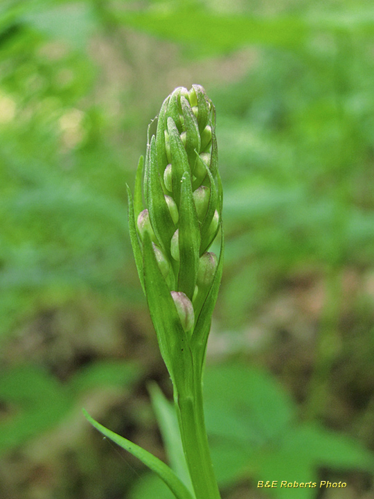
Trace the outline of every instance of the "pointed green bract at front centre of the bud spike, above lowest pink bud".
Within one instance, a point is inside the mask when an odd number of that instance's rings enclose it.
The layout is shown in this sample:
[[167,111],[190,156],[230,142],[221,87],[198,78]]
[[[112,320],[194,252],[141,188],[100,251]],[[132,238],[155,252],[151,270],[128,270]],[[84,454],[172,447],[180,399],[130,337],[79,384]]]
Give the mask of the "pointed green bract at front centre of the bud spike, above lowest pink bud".
[[190,300],[195,292],[199,267],[200,231],[188,172],[181,178],[181,204],[179,209],[179,276],[178,290]]

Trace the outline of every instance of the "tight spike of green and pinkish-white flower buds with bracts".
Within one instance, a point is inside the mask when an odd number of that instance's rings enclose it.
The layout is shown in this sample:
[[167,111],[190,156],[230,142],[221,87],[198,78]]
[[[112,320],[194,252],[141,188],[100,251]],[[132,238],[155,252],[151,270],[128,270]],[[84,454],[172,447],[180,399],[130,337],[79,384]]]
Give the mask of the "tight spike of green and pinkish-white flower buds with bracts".
[[208,249],[222,213],[215,108],[200,85],[178,87],[164,100],[142,183],[141,247],[150,238],[181,325],[192,331],[215,279],[218,259]]

